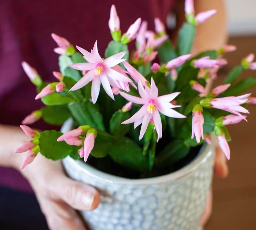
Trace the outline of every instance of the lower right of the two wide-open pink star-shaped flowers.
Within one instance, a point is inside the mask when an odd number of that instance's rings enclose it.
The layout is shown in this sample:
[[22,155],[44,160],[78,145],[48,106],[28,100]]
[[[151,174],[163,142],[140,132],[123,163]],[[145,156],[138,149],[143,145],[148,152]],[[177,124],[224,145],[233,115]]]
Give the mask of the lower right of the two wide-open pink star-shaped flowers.
[[176,92],[158,97],[158,89],[153,78],[151,78],[151,88],[148,86],[143,88],[141,81],[139,81],[138,86],[139,94],[141,97],[136,97],[124,92],[120,92],[120,95],[123,96],[126,100],[135,104],[143,105],[138,112],[136,112],[130,119],[124,121],[122,124],[129,124],[134,122],[134,128],[136,128],[142,123],[140,130],[141,139],[146,132],[148,123],[151,120],[156,127],[159,140],[162,137],[162,122],[159,112],[168,117],[185,118],[184,115],[172,109],[180,106],[174,106],[170,103],[170,101],[172,101],[180,93]]

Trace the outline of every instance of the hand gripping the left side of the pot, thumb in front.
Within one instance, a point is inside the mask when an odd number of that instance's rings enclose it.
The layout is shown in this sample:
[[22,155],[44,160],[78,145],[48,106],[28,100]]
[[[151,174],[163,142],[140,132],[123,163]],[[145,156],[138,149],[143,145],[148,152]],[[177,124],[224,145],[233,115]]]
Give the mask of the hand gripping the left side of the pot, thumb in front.
[[[27,141],[24,133],[15,131],[17,140]],[[13,148],[19,146],[17,143]],[[12,166],[19,169],[25,155],[16,153]],[[61,161],[46,159],[41,154],[20,172],[32,186],[50,230],[85,230],[75,210],[90,211],[99,205],[100,195],[95,188],[68,178]]]

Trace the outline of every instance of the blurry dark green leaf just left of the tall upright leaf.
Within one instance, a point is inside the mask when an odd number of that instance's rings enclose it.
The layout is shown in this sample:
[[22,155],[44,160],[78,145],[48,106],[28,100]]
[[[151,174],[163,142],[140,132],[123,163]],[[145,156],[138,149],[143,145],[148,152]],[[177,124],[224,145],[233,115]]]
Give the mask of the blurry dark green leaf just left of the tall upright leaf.
[[157,50],[160,61],[162,63],[166,63],[177,57],[176,51],[174,50],[172,41],[170,39],[165,40],[163,45],[160,46]]

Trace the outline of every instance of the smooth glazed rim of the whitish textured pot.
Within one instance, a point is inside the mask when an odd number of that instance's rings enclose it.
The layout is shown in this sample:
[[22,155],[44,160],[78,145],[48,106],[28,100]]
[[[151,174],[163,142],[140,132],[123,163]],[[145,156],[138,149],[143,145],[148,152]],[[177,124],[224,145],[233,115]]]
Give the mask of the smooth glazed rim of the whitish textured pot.
[[[67,120],[61,127],[61,132],[65,133],[68,130],[70,130],[72,127],[72,124],[73,124],[72,120],[71,121]],[[213,135],[211,136],[213,137]],[[134,185],[152,185],[152,184],[160,184],[160,183],[166,183],[169,181],[177,180],[195,171],[200,165],[204,164],[204,162],[206,162],[209,157],[212,156],[212,154],[214,153],[214,147],[215,147],[215,139],[212,138],[211,145],[203,144],[198,155],[191,162],[189,162],[188,165],[185,165],[179,170],[166,175],[143,178],[143,179],[129,179],[129,178],[112,175],[109,173],[104,173],[92,167],[89,164],[85,164],[83,161],[75,160],[69,156],[63,159],[63,161],[65,162],[64,164],[67,164],[67,163],[71,164],[74,167],[76,167],[79,171],[93,177],[96,180],[104,180],[105,182],[112,183],[112,184],[124,184],[124,185],[133,185],[133,186]]]

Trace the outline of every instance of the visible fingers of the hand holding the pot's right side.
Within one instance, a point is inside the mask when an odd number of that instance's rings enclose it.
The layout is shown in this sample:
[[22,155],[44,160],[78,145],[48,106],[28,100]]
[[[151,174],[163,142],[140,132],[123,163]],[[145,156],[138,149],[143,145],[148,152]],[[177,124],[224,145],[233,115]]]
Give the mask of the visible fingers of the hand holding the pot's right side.
[[[219,176],[220,178],[226,178],[228,176],[227,158],[225,157],[224,153],[221,151],[219,145],[217,145],[215,150],[214,174]],[[212,215],[212,188],[208,192],[204,213],[201,217],[202,226],[204,226],[207,223],[211,215]]]

